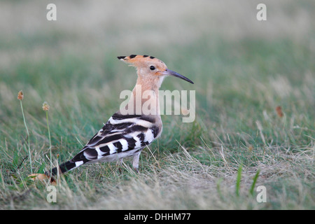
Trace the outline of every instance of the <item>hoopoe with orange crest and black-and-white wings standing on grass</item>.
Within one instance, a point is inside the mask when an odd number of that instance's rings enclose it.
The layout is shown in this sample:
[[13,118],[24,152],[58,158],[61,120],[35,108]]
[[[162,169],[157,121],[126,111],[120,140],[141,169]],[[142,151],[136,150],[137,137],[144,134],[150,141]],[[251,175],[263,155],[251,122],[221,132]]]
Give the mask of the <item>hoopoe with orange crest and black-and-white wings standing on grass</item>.
[[[162,132],[158,90],[163,79],[166,76],[175,76],[193,83],[185,76],[167,69],[164,62],[152,56],[130,55],[120,56],[118,59],[137,69],[137,84],[132,90],[130,101],[125,108],[120,108],[109,118],[104,127],[87,142],[77,155],[62,165],[45,172],[47,176],[63,174],[81,165],[94,162],[122,162],[123,158],[127,157],[133,157],[132,167],[139,172],[141,151],[158,139]],[[150,97],[145,101],[141,96],[148,92]],[[141,98],[139,99],[139,97]],[[139,106],[142,109],[144,104],[151,105],[148,111],[139,110]]]

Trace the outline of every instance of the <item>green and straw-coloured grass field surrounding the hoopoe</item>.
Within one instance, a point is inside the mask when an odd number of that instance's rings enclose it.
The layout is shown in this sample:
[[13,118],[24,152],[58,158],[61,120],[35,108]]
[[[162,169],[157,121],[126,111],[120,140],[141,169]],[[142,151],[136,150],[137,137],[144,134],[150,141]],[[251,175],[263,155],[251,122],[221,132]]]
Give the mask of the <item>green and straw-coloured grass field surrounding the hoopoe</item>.
[[[278,22],[285,29],[287,9],[269,4],[271,12],[282,12]],[[296,4],[297,14],[314,18],[311,3]],[[209,20],[202,19],[208,14],[196,14],[197,6],[169,7],[178,23],[167,24],[165,30],[174,35],[167,41],[159,35],[151,42],[135,41],[129,33],[130,42],[124,42],[122,30],[156,36],[148,27],[152,21],[130,28],[128,21],[116,21],[104,34],[91,34],[94,41],[86,45],[84,23],[82,30],[64,29],[66,22],[60,22],[49,31],[1,36],[8,60],[0,69],[0,209],[315,209],[314,29],[305,35],[300,26],[295,32],[302,37],[281,36],[271,21],[267,30],[273,38],[248,29],[231,38],[224,35],[225,24],[209,23],[210,31],[194,28],[199,35],[187,32],[187,40],[175,43],[183,27],[204,27]],[[243,21],[247,9],[234,9],[244,10],[236,14]],[[198,16],[189,20],[193,15]],[[181,23],[182,16],[190,22]],[[57,203],[48,203],[46,186],[27,176],[31,169],[50,169],[50,159],[54,165],[69,160],[118,110],[120,91],[131,90],[136,80],[134,69],[116,59],[129,52],[158,57],[195,82],[167,78],[161,89],[196,90],[196,120],[162,116],[162,136],[141,153],[139,174],[131,160],[124,160],[123,172],[116,163],[80,167],[61,177]],[[21,89],[29,134],[16,99]],[[50,104],[49,127],[43,102]],[[267,190],[265,203],[256,200],[258,186]]]

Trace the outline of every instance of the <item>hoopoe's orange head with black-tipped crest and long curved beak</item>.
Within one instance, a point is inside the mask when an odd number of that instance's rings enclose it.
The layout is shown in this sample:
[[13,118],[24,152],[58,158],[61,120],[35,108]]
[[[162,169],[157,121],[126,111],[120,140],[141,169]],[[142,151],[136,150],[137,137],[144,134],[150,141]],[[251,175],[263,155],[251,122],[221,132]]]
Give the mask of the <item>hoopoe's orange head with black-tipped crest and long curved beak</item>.
[[142,80],[160,80],[162,83],[165,76],[175,76],[183,80],[193,83],[192,80],[182,76],[176,71],[167,69],[167,66],[160,59],[148,55],[130,55],[119,56],[118,59],[122,60],[137,68],[138,76]]

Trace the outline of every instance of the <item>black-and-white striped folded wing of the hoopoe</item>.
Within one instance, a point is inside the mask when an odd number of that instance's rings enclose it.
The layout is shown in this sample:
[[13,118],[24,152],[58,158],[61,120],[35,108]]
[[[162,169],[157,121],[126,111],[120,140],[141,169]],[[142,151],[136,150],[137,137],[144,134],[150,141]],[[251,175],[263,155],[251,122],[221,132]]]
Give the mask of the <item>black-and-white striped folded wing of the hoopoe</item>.
[[[73,168],[92,162],[111,162],[134,155],[151,144],[162,131],[148,116],[115,113],[69,162]],[[71,168],[71,169],[73,169]]]

